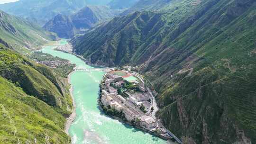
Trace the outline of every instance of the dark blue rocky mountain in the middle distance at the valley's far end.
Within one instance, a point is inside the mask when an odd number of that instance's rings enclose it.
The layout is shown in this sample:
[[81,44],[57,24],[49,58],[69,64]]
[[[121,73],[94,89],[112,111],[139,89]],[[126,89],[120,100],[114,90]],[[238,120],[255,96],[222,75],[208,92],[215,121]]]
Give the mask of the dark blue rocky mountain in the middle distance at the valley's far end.
[[83,33],[99,22],[106,21],[118,15],[121,10],[110,9],[107,6],[90,5],[71,16],[57,15],[46,23],[44,28],[55,32],[59,37],[71,38]]

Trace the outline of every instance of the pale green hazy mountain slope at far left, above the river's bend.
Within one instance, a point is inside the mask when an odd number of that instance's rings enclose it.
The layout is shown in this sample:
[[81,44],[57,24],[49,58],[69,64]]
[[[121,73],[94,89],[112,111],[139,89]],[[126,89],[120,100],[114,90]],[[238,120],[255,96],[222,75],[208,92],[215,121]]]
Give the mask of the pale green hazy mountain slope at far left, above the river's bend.
[[46,32],[37,24],[0,11],[0,38],[13,47],[30,48],[45,44],[53,39],[54,35]]

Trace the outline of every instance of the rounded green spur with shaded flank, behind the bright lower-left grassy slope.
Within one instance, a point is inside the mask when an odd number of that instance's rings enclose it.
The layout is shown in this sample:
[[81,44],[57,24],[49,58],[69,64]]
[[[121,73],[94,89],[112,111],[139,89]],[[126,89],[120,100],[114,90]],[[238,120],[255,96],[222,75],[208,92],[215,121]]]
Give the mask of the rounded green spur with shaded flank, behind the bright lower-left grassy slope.
[[0,75],[20,85],[28,94],[46,102],[67,116],[72,111],[72,100],[67,81],[49,68],[29,62],[7,49],[0,50]]

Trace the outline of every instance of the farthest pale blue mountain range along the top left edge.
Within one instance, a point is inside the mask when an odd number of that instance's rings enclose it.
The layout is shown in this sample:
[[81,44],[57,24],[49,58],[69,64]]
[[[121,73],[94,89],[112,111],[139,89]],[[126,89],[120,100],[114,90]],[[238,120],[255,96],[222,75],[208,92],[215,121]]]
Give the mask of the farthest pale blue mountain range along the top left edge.
[[71,15],[88,4],[106,5],[110,0],[19,0],[0,4],[0,9],[23,18],[36,19],[44,25],[58,14]]

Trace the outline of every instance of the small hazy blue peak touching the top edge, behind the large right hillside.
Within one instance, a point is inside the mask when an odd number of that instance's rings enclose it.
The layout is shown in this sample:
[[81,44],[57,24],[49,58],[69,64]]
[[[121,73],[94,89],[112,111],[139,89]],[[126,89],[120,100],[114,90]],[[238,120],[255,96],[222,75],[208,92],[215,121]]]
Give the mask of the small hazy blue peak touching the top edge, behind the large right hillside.
[[138,0],[112,0],[108,5],[111,9],[128,9]]

